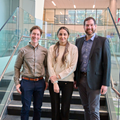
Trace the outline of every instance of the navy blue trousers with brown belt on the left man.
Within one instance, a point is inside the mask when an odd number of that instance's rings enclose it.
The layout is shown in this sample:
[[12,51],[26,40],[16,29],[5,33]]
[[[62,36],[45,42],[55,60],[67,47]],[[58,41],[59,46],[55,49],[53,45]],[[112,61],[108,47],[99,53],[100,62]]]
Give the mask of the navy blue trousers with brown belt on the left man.
[[21,120],[29,119],[29,110],[30,110],[32,97],[33,97],[33,108],[34,108],[33,120],[40,120],[44,88],[45,88],[45,81],[43,79],[39,81],[29,81],[22,79]]

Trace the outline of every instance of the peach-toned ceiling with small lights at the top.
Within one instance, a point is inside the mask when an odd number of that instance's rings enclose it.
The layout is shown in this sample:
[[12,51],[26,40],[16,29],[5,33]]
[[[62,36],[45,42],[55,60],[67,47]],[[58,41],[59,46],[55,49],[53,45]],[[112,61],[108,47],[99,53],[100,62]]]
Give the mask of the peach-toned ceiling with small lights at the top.
[[[107,8],[109,7],[111,0],[53,0],[56,4],[56,7],[52,4],[52,0],[45,0],[44,9],[48,8],[74,8],[73,5],[76,5],[76,9],[82,8],[92,8],[95,4],[95,8]],[[117,1],[117,8],[120,8],[120,0]]]

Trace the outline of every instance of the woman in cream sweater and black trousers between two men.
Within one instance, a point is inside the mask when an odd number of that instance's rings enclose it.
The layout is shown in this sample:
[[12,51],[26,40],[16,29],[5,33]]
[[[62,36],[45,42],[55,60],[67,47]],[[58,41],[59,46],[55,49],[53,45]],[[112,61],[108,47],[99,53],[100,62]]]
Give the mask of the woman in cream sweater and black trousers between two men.
[[[78,49],[75,45],[68,42],[69,30],[66,27],[60,27],[57,31],[57,36],[59,41],[52,45],[48,52],[52,120],[69,120]],[[61,110],[60,91],[62,93]]]

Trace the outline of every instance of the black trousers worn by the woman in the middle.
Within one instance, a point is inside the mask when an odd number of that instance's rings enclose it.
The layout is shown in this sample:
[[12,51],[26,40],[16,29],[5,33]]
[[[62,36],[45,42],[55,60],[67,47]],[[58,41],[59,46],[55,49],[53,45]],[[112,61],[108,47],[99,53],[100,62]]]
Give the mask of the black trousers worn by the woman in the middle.
[[70,101],[73,92],[73,82],[58,82],[61,95],[60,110],[60,93],[55,93],[53,84],[49,81],[49,91],[51,97],[52,120],[69,120]]

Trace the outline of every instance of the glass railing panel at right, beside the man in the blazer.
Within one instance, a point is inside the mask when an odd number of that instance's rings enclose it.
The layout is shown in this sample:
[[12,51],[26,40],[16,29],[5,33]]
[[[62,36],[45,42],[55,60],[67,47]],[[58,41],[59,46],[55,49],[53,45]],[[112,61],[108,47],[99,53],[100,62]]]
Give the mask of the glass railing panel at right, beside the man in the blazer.
[[[98,35],[101,35],[103,37],[107,37],[109,39],[110,43],[110,51],[111,51],[111,77],[113,79],[113,82],[116,83],[117,86],[114,86],[117,91],[119,91],[119,68],[120,68],[120,39],[119,39],[119,33],[115,27],[115,24],[113,22],[112,16],[108,9],[102,11],[101,15],[101,26],[97,27],[97,33]],[[99,21],[99,20],[98,20]],[[98,22],[99,24],[99,22]],[[111,88],[111,86],[110,86]],[[112,100],[110,98],[112,97]],[[109,105],[113,103],[113,107],[109,108],[108,111],[110,111],[109,115],[113,115],[116,118],[119,116],[119,103],[118,98],[116,97],[116,93],[110,89],[110,96],[108,98],[111,100]],[[116,120],[114,118],[114,120]]]

